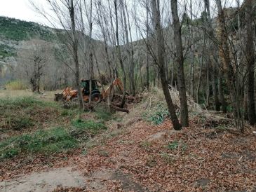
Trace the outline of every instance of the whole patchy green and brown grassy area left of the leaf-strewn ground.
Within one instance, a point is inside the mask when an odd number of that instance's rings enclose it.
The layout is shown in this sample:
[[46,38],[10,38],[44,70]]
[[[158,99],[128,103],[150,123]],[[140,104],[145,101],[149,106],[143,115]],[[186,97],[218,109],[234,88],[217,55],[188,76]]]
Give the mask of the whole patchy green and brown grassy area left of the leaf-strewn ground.
[[[76,118],[77,109],[62,109],[58,102],[36,97],[0,98],[0,131],[15,135],[0,141],[0,159],[27,153],[59,153],[83,146],[107,129],[104,122],[112,114],[97,114],[97,121],[84,120]],[[24,132],[28,128],[34,130]]]

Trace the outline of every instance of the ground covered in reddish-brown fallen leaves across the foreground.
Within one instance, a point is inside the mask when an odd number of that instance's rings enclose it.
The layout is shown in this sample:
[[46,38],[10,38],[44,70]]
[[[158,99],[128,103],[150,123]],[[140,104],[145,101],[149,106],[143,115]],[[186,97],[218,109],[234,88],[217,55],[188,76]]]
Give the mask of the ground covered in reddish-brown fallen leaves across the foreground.
[[[149,125],[139,120],[128,127],[117,127],[96,137],[83,149],[52,157],[20,157],[2,162],[0,180],[71,166],[86,177],[105,172],[121,172],[124,176],[92,177],[84,188],[58,187],[55,191],[253,191],[256,188],[256,136],[251,128],[241,135],[234,130],[201,128],[196,119],[180,132],[170,132],[169,121]],[[93,178],[99,180],[99,188],[90,185]]]

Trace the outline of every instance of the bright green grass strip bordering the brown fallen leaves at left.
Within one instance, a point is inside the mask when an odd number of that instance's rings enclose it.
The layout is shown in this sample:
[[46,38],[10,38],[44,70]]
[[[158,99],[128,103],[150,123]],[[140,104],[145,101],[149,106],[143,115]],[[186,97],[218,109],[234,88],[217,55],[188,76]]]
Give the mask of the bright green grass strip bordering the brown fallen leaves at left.
[[0,142],[0,159],[13,158],[20,153],[58,153],[79,146],[81,141],[107,129],[104,124],[92,120],[77,119],[71,125],[69,128],[37,130],[6,139]]

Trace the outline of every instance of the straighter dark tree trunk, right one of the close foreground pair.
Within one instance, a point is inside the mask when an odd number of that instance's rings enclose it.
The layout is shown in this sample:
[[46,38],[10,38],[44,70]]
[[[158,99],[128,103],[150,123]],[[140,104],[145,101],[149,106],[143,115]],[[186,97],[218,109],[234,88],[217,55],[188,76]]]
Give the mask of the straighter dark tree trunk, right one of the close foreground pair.
[[184,80],[184,67],[183,67],[183,48],[182,48],[182,36],[181,27],[179,21],[179,15],[177,13],[177,0],[171,0],[171,9],[173,15],[173,25],[174,25],[174,36],[176,44],[176,62],[178,69],[178,85],[179,85],[179,95],[180,95],[180,123],[184,127],[189,126],[189,112],[187,107],[187,95],[186,95],[186,85]]

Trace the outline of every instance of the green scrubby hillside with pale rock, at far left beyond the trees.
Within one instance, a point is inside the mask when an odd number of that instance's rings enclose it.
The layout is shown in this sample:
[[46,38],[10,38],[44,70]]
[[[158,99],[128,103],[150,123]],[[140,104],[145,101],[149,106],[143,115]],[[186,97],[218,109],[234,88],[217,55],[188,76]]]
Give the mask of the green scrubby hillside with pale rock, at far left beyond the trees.
[[17,52],[22,48],[21,42],[29,39],[54,41],[57,36],[50,27],[35,22],[0,17],[0,85],[11,78],[11,72],[17,64]]

